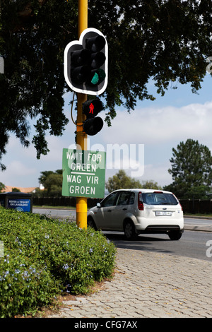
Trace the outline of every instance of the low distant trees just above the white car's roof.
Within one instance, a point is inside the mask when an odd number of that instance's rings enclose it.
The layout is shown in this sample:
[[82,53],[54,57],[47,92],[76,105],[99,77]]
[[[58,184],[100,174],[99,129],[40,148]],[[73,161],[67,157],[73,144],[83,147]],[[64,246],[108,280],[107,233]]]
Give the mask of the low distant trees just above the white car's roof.
[[117,172],[117,174],[115,174],[113,177],[109,177],[105,187],[109,192],[117,189],[129,188],[161,189],[157,182],[154,182],[153,180],[140,182],[139,180],[126,175],[124,170],[119,170],[119,172]]

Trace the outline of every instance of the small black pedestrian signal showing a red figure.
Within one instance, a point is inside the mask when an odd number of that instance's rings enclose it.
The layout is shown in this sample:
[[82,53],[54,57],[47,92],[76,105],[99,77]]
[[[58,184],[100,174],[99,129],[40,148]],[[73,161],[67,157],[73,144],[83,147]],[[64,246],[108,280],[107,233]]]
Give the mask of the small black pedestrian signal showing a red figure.
[[102,108],[102,102],[98,98],[83,103],[83,113],[86,114],[86,120],[83,121],[83,131],[86,134],[93,136],[102,129],[103,120],[96,117]]

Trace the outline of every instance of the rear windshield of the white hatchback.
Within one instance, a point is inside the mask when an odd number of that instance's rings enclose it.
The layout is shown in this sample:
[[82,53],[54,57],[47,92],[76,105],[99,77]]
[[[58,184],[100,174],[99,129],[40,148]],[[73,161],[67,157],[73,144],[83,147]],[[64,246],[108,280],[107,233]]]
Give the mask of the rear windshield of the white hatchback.
[[143,203],[149,205],[177,205],[178,201],[172,194],[142,193]]

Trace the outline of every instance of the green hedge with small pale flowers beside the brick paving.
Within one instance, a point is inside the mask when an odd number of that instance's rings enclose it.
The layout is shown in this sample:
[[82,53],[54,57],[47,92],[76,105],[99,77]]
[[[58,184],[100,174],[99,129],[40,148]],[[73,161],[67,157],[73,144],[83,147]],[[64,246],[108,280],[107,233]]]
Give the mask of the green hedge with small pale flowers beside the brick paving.
[[61,292],[110,277],[116,249],[101,232],[0,207],[0,317],[32,314]]

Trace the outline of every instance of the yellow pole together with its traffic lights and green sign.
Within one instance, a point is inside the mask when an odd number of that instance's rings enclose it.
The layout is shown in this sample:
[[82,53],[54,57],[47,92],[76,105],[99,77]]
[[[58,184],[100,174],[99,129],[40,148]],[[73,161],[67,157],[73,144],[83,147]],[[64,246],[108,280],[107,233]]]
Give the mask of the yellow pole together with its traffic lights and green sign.
[[[76,150],[63,149],[62,195],[76,196],[76,225],[80,228],[87,228],[87,198],[104,197],[104,186],[97,179],[104,178],[105,182],[105,153],[93,153],[87,147],[87,135],[94,136],[102,129],[103,120],[97,115],[103,105],[98,97],[87,99],[88,95],[100,95],[107,87],[107,54],[105,36],[88,28],[88,0],[78,0],[78,40],[69,42],[64,49],[64,77],[77,93]],[[76,160],[78,155],[80,162]],[[90,165],[94,163],[91,173]],[[88,172],[83,172],[80,164],[82,168],[88,165]]]

